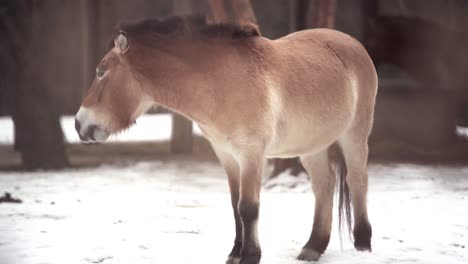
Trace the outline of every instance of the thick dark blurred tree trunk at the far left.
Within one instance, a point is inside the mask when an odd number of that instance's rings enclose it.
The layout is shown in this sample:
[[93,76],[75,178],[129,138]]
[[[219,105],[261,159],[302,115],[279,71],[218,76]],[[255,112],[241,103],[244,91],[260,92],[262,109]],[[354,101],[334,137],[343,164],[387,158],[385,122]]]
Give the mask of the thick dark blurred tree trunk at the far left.
[[[2,14],[1,23],[9,39],[15,63],[16,87],[12,117],[15,140],[26,169],[58,169],[68,165],[59,114],[42,80],[41,65],[47,54],[38,2],[16,1],[12,14]],[[8,11],[7,11],[8,12]]]

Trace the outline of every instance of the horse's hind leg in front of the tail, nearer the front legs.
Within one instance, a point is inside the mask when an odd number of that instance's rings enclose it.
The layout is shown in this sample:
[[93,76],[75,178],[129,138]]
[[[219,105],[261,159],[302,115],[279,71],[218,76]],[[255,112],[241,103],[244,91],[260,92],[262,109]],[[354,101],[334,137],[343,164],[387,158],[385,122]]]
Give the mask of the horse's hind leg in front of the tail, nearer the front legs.
[[330,241],[336,178],[330,166],[328,150],[315,155],[302,156],[301,162],[311,178],[315,195],[315,213],[309,241],[297,259],[317,261]]

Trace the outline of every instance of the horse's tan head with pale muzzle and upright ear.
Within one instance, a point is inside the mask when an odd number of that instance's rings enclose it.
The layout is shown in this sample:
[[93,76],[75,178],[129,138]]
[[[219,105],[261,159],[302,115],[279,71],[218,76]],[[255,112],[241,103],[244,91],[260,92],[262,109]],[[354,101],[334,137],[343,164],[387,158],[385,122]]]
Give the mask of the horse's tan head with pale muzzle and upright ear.
[[129,47],[127,37],[120,33],[96,68],[96,77],[75,118],[83,142],[105,141],[133,124],[152,105],[126,58]]

